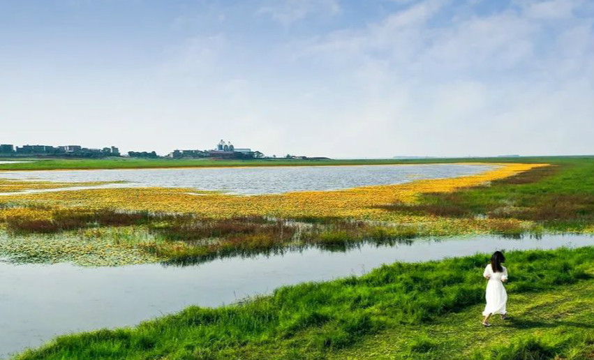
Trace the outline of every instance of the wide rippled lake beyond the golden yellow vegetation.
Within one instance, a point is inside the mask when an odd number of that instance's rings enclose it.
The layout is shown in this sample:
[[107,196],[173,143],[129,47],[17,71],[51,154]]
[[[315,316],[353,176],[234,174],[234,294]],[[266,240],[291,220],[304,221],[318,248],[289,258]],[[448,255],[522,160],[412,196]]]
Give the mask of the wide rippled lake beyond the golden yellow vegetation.
[[[287,193],[304,190],[336,190],[356,186],[406,183],[417,179],[437,179],[478,174],[493,165],[354,165],[281,167],[201,167],[176,169],[10,171],[0,178],[60,182],[127,181],[105,187],[159,186],[220,190],[241,195]],[[34,190],[78,190],[80,188]],[[14,193],[13,193],[14,194]]]

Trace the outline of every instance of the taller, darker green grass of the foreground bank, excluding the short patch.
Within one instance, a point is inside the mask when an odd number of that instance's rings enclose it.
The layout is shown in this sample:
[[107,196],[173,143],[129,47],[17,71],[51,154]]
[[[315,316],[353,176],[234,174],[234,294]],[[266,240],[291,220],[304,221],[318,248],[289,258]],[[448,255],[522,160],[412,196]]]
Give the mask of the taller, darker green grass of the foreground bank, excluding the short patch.
[[[564,299],[560,290],[571,285],[576,285],[573,292],[591,291],[593,247],[510,252],[506,257],[511,297],[537,301],[539,294],[551,292]],[[17,359],[327,359],[334,355],[338,359],[376,359],[373,350],[355,357],[345,354],[366,348],[366,341],[376,335],[393,332],[404,339],[418,329],[423,329],[422,333],[440,329],[447,317],[468,317],[470,320],[454,325],[496,336],[485,333],[479,324],[484,292],[481,274],[488,259],[487,255],[475,255],[396,263],[360,277],[281,287],[268,297],[232,306],[191,306],[134,328],[61,336]],[[545,263],[547,266],[536,266]],[[592,313],[584,303],[589,300],[572,303],[574,311],[581,306],[586,308],[579,310],[581,314],[587,309]],[[538,303],[534,306],[539,308]],[[562,315],[570,310],[555,311]],[[508,324],[526,325],[514,321]],[[459,346],[460,341],[420,338],[401,347],[392,344],[392,351],[401,356],[389,359],[448,359],[438,356],[443,356],[447,347]],[[475,349],[469,345],[463,350]]]

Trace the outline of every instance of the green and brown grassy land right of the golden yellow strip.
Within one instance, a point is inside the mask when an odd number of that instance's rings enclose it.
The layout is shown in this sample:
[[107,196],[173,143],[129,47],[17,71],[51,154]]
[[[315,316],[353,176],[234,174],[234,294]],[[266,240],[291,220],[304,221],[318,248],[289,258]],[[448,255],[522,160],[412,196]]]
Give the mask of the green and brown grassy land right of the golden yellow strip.
[[383,209],[417,216],[518,219],[545,230],[581,231],[594,223],[594,159],[549,159],[489,186],[425,193],[414,203],[395,202]]

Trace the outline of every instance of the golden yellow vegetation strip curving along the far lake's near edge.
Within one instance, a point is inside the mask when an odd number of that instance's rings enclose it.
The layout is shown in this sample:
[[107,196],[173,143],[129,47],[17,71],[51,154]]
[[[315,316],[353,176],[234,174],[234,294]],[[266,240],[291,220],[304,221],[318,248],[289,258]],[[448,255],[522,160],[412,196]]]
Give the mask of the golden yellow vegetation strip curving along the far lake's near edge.
[[[200,192],[187,188],[110,188],[6,195],[0,202],[34,203],[44,207],[112,208],[191,212],[200,216],[227,218],[232,216],[279,216],[366,218],[396,220],[395,213],[377,209],[378,205],[394,202],[415,202],[417,195],[451,192],[458,188],[478,186],[489,181],[510,177],[519,172],[547,164],[489,164],[497,167],[481,174],[451,179],[429,179],[387,186],[364,186],[346,190],[304,191],[273,195],[227,195]],[[13,211],[31,211],[31,216],[45,216],[45,210],[3,209],[0,220]],[[24,215],[21,213],[20,215]],[[406,220],[398,218],[398,220]],[[418,222],[419,217],[408,220]]]

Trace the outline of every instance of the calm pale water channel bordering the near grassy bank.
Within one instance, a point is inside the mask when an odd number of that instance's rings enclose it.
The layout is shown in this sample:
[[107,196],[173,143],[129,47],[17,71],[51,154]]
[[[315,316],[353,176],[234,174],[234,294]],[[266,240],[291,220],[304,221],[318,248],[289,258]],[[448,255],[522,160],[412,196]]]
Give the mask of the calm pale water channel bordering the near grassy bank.
[[[161,264],[83,268],[0,262],[0,357],[52,337],[138,324],[189,305],[220,306],[276,287],[361,275],[381,264],[419,262],[494,250],[593,246],[586,235],[541,239],[481,236],[362,244],[346,252],[318,248],[230,257],[188,267]],[[507,264],[513,278],[514,264]],[[480,278],[481,273],[477,273]]]

